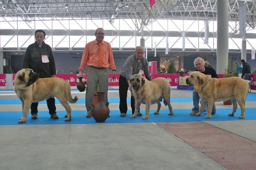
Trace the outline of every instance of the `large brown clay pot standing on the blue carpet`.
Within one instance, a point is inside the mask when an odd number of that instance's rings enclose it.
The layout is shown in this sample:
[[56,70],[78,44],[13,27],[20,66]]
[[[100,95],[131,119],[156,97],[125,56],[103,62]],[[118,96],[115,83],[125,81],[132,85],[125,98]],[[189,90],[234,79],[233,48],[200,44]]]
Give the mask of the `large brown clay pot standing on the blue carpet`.
[[103,123],[108,118],[109,115],[109,102],[107,104],[104,103],[104,94],[105,91],[97,91],[98,95],[98,102],[96,105],[93,105],[93,108],[91,109],[91,113],[93,118],[98,123]]

